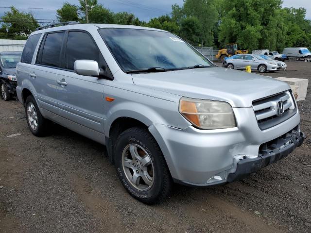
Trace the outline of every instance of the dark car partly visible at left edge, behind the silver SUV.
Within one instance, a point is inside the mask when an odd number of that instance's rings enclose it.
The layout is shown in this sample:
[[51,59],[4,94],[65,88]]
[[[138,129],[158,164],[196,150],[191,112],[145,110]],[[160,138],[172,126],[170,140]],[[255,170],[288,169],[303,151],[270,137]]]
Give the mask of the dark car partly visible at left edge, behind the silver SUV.
[[21,52],[0,52],[0,91],[3,100],[10,100],[16,96],[16,65]]

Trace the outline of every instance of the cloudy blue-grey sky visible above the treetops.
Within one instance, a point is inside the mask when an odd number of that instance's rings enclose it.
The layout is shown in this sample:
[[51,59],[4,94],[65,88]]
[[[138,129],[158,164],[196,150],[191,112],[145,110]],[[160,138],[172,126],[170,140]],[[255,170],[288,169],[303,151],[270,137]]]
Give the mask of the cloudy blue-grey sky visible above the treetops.
[[[8,11],[11,5],[20,11],[32,11],[36,19],[55,19],[56,9],[61,8],[63,2],[78,5],[78,0],[6,0],[0,5],[0,17]],[[170,14],[171,6],[175,3],[183,4],[183,0],[98,0],[113,12],[127,11],[136,15],[140,20],[148,21],[152,17]],[[22,8],[25,9],[22,9]],[[283,0],[283,7],[304,7],[307,9],[307,18],[311,19],[311,0]],[[32,8],[32,9],[29,9]],[[44,8],[44,9],[34,9]],[[49,8],[49,9],[47,9]]]

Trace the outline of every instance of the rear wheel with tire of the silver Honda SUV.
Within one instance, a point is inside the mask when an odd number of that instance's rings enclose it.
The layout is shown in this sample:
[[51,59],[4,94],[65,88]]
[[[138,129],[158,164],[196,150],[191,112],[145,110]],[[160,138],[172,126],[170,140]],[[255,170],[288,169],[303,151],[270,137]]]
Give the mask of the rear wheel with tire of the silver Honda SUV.
[[47,120],[41,115],[35,98],[28,96],[25,102],[25,115],[28,127],[35,136],[45,134]]

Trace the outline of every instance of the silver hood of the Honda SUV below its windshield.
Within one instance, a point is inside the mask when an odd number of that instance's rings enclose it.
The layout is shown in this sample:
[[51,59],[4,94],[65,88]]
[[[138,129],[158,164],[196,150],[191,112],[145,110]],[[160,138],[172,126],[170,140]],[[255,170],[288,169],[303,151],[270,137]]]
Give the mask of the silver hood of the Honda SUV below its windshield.
[[134,84],[196,99],[221,100],[247,108],[258,100],[285,90],[282,81],[222,67],[133,74]]

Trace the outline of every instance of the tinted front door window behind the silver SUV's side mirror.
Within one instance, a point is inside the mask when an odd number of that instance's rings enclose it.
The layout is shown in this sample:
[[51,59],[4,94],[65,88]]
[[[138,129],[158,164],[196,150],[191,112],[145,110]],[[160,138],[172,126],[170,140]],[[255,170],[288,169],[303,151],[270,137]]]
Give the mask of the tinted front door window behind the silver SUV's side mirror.
[[76,60],[93,60],[99,67],[103,64],[103,56],[88,33],[69,32],[65,51],[65,68],[73,70]]

